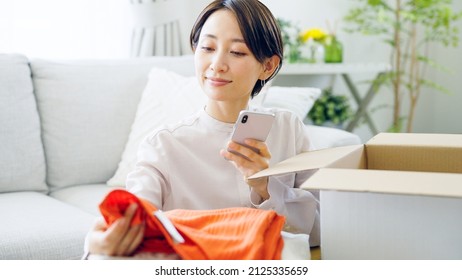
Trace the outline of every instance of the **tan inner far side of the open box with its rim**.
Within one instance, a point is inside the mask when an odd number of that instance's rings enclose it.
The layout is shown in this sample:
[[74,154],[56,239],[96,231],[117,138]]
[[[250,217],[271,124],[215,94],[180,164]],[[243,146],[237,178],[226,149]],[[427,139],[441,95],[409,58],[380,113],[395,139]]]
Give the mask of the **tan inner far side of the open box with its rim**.
[[368,169],[462,173],[462,135],[380,133],[366,144]]

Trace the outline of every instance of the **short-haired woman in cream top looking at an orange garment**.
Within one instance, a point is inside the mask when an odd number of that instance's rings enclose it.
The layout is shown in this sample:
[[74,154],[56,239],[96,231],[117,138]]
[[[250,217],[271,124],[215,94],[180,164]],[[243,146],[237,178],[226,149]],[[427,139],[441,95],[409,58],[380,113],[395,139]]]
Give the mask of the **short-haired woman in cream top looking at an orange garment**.
[[[190,36],[196,76],[208,97],[203,110],[151,133],[138,151],[127,189],[163,210],[256,207],[273,209],[287,228],[318,243],[318,201],[296,188],[306,174],[247,178],[270,164],[309,150],[303,123],[287,111],[271,110],[275,122],[265,142],[230,142],[239,112],[282,64],[279,27],[258,0],[217,0],[199,15]],[[233,152],[230,152],[233,151]],[[91,253],[132,254],[143,225],[130,227],[132,205],[111,227],[99,221],[87,241]]]

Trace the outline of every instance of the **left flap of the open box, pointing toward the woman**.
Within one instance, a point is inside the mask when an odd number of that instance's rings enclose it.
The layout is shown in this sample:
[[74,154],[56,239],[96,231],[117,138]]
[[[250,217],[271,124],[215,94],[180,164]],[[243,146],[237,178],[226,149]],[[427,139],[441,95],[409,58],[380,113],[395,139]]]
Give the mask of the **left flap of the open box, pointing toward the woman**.
[[[313,170],[329,166],[346,168],[348,165],[351,165],[352,168],[358,168],[358,164],[363,163],[361,157],[359,157],[360,159],[353,160],[351,163],[345,158],[348,158],[348,156],[352,154],[362,153],[363,148],[364,145],[351,145],[301,153],[281,161],[270,168],[255,173],[250,176],[249,179],[303,170]],[[353,158],[358,158],[358,156],[356,155]]]

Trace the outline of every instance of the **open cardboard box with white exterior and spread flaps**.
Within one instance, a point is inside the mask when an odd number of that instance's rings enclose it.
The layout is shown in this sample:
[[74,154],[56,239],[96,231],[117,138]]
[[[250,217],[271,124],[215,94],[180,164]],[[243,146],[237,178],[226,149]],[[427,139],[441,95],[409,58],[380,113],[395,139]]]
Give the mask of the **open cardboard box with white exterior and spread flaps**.
[[322,259],[462,259],[462,135],[381,133],[254,177],[309,169]]

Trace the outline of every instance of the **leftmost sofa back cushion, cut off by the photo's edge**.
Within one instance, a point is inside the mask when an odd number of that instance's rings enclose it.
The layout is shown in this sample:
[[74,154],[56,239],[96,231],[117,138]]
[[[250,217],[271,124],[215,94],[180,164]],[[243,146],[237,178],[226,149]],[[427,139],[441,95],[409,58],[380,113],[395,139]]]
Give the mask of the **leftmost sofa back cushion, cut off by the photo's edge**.
[[45,175],[28,60],[0,55],[0,192],[47,191]]

